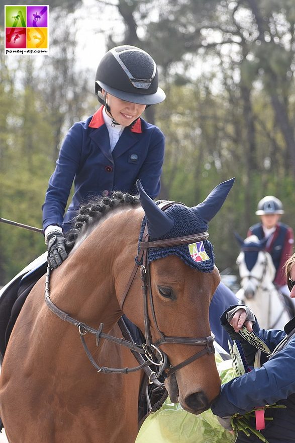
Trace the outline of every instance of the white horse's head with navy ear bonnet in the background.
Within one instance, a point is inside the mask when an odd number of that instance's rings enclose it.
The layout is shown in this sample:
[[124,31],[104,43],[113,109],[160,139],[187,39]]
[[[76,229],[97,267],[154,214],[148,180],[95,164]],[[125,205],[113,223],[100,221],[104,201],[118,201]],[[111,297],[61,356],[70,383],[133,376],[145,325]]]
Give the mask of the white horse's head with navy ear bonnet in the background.
[[241,246],[237,265],[241,278],[241,286],[247,300],[253,299],[259,286],[267,287],[274,279],[275,267],[271,256],[265,251],[267,238],[259,240],[252,235],[243,240],[236,234]]

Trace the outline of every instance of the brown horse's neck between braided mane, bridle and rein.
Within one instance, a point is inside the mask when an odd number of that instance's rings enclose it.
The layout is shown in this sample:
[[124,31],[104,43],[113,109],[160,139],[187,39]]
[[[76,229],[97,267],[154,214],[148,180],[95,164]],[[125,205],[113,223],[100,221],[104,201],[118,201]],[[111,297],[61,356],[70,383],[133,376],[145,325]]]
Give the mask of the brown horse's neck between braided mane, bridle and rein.
[[128,281],[140,228],[140,218],[129,220],[127,212],[117,212],[101,223],[52,273],[52,301],[90,326],[98,327],[97,322],[103,322],[110,329],[122,315],[116,297],[118,274],[125,270]]

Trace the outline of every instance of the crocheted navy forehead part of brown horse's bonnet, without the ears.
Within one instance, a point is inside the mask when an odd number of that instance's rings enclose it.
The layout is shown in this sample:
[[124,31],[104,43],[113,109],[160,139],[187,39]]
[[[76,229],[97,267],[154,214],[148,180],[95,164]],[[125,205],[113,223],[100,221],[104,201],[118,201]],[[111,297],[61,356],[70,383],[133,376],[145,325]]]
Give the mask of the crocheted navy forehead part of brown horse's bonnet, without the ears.
[[[156,203],[159,204],[160,201]],[[208,230],[208,225],[201,219],[194,208],[182,204],[173,204],[164,212],[174,220],[174,226],[162,237],[153,238],[152,240],[164,240],[186,235],[201,234]],[[146,217],[143,218],[141,224],[139,242],[142,241],[145,225]],[[208,240],[192,242],[190,245],[149,248],[148,261],[152,262],[153,260],[167,257],[168,255],[177,255],[186,265],[198,269],[201,272],[212,272],[214,268],[213,246]]]

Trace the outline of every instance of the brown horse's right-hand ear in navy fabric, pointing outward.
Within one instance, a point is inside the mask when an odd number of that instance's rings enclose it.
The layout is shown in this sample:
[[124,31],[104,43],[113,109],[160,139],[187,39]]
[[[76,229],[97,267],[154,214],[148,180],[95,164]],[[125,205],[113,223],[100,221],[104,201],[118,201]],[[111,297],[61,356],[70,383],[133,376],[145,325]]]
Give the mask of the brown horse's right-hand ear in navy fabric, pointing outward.
[[206,200],[194,207],[205,223],[209,223],[209,221],[212,220],[212,218],[217,214],[225,202],[234,181],[235,179],[231,178],[226,182],[220,183],[218,186],[216,186],[216,188],[213,189],[213,191],[210,192]]

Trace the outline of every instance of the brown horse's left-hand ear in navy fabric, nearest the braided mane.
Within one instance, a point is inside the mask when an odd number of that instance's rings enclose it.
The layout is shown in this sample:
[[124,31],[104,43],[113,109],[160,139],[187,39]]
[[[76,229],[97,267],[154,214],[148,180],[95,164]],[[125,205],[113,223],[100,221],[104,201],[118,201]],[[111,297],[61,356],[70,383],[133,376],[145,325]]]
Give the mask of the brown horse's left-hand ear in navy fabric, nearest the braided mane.
[[152,239],[158,239],[173,228],[174,219],[171,214],[162,211],[147,195],[140,180],[137,180],[136,186],[139,192],[139,200],[145,213],[149,235]]

